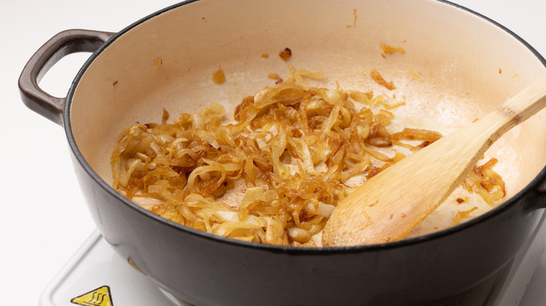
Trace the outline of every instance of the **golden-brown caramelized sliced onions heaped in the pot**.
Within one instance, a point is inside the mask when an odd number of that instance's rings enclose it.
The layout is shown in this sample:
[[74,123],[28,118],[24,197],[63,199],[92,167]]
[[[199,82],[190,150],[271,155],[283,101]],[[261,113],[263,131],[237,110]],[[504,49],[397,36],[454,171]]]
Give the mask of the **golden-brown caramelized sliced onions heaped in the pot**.
[[[212,103],[172,123],[164,110],[159,124],[127,126],[111,156],[113,187],[155,214],[202,231],[315,245],[311,237],[353,189],[349,180],[360,176],[362,182],[405,157],[376,147],[415,151],[442,137],[409,128],[389,133],[394,116],[386,109],[403,103],[372,92],[311,87],[303,79],[322,76],[291,68],[287,80],[244,98],[235,123],[226,124],[223,106]],[[386,109],[374,113],[377,106]],[[491,166],[478,167],[464,184],[487,201],[491,193],[498,196],[502,182]],[[237,188],[244,196],[237,198]]]

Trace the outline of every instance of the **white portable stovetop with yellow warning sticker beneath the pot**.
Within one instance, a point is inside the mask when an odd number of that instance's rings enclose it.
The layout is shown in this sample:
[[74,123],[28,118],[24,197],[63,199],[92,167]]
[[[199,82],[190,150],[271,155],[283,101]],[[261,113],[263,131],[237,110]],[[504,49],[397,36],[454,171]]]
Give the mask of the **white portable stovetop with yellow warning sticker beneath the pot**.
[[[520,301],[546,247],[545,217],[546,212],[531,239],[505,268],[442,306],[536,306]],[[118,256],[97,230],[52,279],[39,305],[190,306],[159,289]]]

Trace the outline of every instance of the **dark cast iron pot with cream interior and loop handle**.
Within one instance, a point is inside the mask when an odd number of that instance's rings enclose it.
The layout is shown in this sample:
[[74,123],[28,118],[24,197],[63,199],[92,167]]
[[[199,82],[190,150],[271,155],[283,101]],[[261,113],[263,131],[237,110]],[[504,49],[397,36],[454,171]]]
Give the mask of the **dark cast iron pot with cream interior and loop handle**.
[[[380,43],[406,52],[382,57]],[[284,48],[293,52],[288,63],[276,55]],[[41,75],[78,51],[93,53],[66,98],[43,92]],[[30,59],[19,86],[29,108],[64,126],[106,241],[160,288],[195,305],[436,303],[494,275],[535,230],[546,207],[544,111],[491,149],[512,173],[505,203],[458,226],[384,245],[295,248],[218,238],[166,221],[111,188],[109,156],[123,126],[157,122],[163,108],[195,112],[211,101],[229,114],[244,96],[272,85],[267,73],[287,75],[288,64],[323,71],[327,87],[338,81],[379,94],[386,89],[367,76],[377,68],[398,85],[385,94],[405,99],[400,111],[446,129],[470,123],[546,72],[545,59],[518,36],[444,1],[202,0],[165,8],[117,34],[59,33]],[[223,85],[211,81],[218,66]]]

